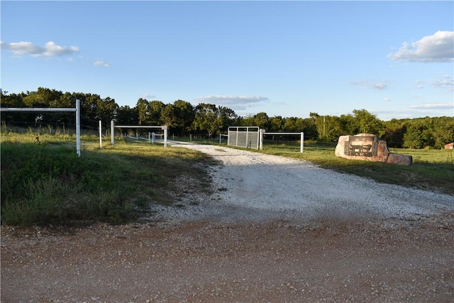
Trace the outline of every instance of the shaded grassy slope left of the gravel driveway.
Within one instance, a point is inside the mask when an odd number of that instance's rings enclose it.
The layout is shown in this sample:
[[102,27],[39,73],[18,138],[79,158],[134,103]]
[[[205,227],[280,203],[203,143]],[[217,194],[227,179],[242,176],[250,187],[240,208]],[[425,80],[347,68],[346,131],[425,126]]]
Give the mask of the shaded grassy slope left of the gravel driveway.
[[121,224],[142,216],[150,204],[175,203],[179,176],[194,190],[209,188],[211,159],[186,148],[117,141],[99,148],[96,137],[11,135],[1,137],[1,223]]

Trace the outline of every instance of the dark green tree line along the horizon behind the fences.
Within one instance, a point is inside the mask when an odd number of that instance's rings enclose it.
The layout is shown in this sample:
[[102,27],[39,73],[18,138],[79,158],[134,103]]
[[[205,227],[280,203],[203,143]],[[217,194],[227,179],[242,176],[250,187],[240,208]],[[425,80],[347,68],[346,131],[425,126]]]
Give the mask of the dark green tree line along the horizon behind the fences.
[[[305,138],[336,142],[339,136],[373,133],[389,147],[443,148],[454,141],[454,118],[425,117],[417,119],[392,119],[382,121],[365,109],[355,109],[352,114],[320,116],[310,113],[309,118],[296,116],[268,116],[265,112],[238,116],[226,106],[200,103],[196,106],[184,100],[172,104],[140,98],[134,107],[118,106],[115,99],[101,98],[99,94],[61,92],[38,87],[37,91],[8,94],[1,91],[1,107],[75,107],[81,104],[82,128],[98,128],[99,121],[109,128],[110,121],[117,125],[167,125],[171,134],[188,136],[199,134],[212,138],[226,133],[228,126],[259,126],[268,132],[304,132]],[[18,126],[71,126],[74,114],[1,112],[2,123]]]

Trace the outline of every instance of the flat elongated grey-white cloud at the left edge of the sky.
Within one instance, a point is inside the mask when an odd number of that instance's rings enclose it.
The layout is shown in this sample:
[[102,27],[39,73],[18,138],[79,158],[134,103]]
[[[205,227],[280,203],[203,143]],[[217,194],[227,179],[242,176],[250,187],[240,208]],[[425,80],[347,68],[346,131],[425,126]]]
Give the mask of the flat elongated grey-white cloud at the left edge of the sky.
[[26,41],[11,43],[0,41],[0,46],[1,49],[9,50],[14,55],[30,55],[33,57],[59,57],[79,53],[77,46],[60,46],[53,41],[45,43],[43,47]]

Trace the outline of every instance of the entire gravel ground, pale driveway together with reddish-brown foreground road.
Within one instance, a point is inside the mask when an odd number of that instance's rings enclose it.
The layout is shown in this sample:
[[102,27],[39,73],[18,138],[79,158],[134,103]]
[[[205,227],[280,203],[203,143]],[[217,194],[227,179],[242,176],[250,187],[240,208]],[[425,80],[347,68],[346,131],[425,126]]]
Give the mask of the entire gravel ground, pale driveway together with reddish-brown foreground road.
[[[454,197],[211,145],[143,223],[1,228],[1,302],[453,302]],[[184,192],[186,194],[181,194]]]

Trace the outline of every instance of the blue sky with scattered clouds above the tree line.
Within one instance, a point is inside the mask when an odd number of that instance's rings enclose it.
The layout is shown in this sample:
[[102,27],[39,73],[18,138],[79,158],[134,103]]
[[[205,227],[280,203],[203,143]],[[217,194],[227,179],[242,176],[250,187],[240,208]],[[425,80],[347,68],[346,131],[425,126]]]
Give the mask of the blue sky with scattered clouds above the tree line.
[[454,116],[453,1],[1,1],[1,89]]

